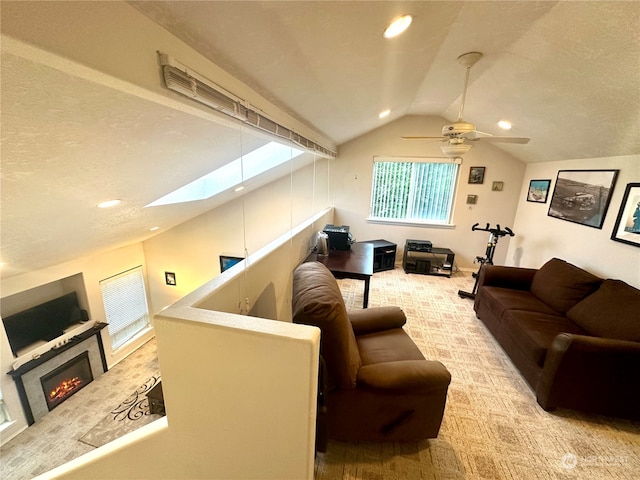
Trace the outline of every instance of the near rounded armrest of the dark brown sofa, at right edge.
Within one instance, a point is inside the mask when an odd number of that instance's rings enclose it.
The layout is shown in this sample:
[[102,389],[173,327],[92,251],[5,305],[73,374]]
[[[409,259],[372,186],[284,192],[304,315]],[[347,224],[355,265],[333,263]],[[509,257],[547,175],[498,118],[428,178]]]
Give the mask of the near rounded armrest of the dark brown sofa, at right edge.
[[640,343],[561,333],[536,386],[545,409],[575,408],[640,419]]

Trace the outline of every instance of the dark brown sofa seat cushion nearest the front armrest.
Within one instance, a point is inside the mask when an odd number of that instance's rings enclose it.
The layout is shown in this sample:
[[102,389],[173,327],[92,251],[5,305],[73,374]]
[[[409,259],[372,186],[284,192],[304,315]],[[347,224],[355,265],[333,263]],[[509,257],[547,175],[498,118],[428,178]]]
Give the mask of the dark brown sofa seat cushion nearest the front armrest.
[[585,335],[587,332],[566,317],[538,312],[509,310],[502,318],[505,332],[522,353],[542,367],[551,342],[559,333]]

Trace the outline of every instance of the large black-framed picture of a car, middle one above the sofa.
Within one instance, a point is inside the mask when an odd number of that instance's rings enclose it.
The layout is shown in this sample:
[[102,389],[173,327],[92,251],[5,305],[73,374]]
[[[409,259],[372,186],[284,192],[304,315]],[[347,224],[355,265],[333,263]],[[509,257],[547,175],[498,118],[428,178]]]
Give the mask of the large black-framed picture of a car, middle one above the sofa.
[[618,170],[560,170],[548,215],[602,228]]

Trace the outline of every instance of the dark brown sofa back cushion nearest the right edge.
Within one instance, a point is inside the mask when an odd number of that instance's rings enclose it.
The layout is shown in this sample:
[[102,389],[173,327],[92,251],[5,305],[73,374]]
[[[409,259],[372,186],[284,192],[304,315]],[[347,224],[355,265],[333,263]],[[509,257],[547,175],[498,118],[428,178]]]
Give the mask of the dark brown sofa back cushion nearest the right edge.
[[567,317],[591,335],[640,342],[640,290],[621,280],[605,280]]

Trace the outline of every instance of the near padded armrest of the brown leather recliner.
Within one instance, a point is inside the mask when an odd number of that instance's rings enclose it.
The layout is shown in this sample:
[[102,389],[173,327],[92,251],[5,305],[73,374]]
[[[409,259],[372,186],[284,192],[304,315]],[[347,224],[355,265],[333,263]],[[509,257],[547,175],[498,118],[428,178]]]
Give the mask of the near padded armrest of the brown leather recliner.
[[357,385],[362,389],[386,393],[428,394],[446,389],[451,374],[434,360],[401,360],[378,363],[360,368]]

